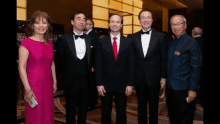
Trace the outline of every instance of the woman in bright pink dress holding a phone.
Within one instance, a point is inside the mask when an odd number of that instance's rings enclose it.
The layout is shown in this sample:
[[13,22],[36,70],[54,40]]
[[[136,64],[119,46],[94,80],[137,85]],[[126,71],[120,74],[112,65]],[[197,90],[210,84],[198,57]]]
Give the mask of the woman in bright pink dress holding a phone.
[[[51,20],[36,11],[27,25],[28,38],[19,47],[19,73],[25,89],[26,124],[54,124],[54,92],[57,90],[53,43],[48,40]],[[38,103],[31,108],[34,97]]]

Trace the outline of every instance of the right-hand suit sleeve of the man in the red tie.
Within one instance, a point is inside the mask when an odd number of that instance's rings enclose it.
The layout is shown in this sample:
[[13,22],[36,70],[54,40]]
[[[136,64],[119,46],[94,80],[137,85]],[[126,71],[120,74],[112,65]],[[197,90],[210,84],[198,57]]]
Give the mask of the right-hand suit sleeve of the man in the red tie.
[[134,58],[134,47],[133,42],[131,39],[129,39],[131,42],[129,45],[129,77],[128,77],[128,86],[134,86],[134,71],[135,71],[135,58]]

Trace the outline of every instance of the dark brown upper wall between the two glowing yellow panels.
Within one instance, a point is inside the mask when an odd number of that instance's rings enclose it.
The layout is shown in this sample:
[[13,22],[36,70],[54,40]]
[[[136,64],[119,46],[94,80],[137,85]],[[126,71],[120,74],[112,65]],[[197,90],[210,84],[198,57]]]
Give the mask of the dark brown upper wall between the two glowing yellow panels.
[[53,23],[63,24],[64,33],[72,31],[71,16],[76,11],[83,11],[87,18],[92,18],[90,0],[29,0],[27,1],[27,19],[34,11],[42,10],[49,14]]

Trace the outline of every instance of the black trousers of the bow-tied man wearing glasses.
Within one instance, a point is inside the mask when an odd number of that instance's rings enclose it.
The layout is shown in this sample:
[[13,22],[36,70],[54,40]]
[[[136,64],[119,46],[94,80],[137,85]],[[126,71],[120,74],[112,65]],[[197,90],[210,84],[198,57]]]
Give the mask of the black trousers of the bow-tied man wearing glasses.
[[150,110],[149,123],[157,124],[160,86],[149,87],[144,81],[135,87],[138,99],[138,124],[147,124],[147,101]]

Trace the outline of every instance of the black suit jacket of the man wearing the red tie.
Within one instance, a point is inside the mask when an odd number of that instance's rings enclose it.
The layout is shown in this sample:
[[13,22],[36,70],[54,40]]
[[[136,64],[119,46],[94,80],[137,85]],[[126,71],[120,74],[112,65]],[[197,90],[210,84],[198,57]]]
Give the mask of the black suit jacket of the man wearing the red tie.
[[110,35],[100,39],[96,50],[96,82],[106,92],[124,93],[126,86],[134,86],[134,50],[131,39],[121,35],[115,61]]

